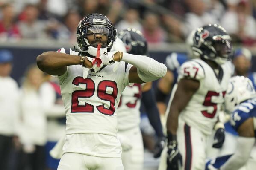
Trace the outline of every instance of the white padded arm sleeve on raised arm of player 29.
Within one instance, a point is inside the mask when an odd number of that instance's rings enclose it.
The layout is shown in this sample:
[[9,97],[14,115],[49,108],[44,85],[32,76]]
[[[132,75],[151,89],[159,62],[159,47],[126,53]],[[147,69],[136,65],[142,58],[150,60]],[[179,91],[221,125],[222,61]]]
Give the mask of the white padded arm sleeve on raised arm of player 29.
[[154,81],[164,77],[167,72],[165,64],[142,55],[123,53],[122,61],[135,66],[137,68],[138,76],[144,82]]

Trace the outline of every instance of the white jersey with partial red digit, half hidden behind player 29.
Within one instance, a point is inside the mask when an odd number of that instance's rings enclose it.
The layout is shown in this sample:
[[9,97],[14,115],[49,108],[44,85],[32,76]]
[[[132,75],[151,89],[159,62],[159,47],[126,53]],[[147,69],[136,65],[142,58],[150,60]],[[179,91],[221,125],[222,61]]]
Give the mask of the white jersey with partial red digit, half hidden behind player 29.
[[118,130],[138,127],[140,124],[142,84],[126,86],[118,105]]

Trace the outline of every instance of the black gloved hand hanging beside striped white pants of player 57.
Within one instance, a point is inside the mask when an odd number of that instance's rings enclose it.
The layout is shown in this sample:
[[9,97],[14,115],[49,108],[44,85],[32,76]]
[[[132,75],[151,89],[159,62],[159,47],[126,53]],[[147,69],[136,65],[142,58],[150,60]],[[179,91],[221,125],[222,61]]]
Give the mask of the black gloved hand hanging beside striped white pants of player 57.
[[[176,138],[176,137],[175,137]],[[168,139],[167,170],[179,170],[182,167],[182,156],[179,153],[176,139]]]

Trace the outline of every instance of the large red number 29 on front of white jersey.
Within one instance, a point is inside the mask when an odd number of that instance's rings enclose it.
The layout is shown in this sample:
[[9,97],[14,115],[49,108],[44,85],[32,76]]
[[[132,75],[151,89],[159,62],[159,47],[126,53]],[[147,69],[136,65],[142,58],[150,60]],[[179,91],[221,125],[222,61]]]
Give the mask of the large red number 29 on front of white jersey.
[[[90,98],[95,92],[95,83],[91,78],[83,79],[82,77],[74,78],[72,84],[79,86],[79,84],[85,84],[85,90],[76,90],[72,93],[71,113],[91,113],[94,112],[94,106],[88,103],[79,105],[79,98]],[[112,94],[107,93],[107,87],[112,88]],[[104,115],[113,115],[115,112],[115,99],[118,95],[118,88],[115,81],[103,80],[98,84],[97,96],[101,100],[109,101],[110,107],[106,108],[104,104],[96,106],[97,110]]]

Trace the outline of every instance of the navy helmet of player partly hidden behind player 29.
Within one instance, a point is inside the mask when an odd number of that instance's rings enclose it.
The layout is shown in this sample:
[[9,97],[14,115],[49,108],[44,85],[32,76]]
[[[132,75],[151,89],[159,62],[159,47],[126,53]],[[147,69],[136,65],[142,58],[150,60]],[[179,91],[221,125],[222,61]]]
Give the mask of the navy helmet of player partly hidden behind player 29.
[[118,37],[123,41],[127,53],[135,55],[147,55],[147,40],[141,31],[133,28],[121,30]]

